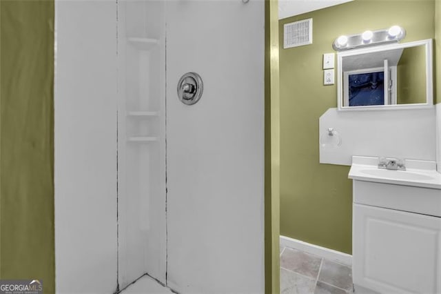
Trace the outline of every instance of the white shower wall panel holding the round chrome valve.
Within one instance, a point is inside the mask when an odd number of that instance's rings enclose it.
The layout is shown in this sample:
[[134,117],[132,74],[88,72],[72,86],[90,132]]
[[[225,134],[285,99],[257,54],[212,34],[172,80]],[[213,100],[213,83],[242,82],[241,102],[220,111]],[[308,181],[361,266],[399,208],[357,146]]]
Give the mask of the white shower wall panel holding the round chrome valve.
[[[264,1],[167,1],[167,284],[263,293]],[[185,72],[203,96],[176,97]]]

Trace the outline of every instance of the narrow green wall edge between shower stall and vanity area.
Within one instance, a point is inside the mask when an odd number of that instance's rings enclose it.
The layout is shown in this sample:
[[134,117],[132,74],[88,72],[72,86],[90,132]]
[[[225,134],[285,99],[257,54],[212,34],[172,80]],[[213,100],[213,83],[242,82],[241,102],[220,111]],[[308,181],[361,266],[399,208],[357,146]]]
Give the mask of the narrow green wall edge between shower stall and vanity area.
[[265,0],[265,293],[280,293],[278,0]]

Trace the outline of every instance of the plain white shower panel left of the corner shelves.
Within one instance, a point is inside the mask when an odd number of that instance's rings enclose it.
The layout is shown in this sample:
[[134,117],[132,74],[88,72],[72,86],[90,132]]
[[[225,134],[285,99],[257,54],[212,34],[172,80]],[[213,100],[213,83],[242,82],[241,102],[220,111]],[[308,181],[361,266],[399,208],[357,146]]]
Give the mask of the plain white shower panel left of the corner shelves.
[[116,6],[55,1],[55,286],[116,290]]

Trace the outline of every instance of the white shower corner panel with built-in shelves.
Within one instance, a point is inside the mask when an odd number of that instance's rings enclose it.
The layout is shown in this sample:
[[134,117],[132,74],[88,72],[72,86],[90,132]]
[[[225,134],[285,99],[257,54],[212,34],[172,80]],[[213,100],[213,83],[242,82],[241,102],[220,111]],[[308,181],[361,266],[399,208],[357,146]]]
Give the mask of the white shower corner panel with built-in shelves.
[[119,286],[165,284],[165,1],[118,1]]

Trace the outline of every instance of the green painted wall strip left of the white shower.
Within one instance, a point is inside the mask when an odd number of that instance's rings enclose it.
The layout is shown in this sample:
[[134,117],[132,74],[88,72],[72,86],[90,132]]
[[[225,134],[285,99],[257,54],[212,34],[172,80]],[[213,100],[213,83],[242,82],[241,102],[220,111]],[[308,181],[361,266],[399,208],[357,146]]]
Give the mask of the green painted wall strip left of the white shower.
[[54,1],[0,1],[0,278],[54,293]]

